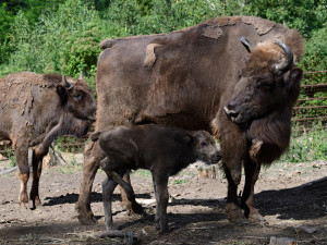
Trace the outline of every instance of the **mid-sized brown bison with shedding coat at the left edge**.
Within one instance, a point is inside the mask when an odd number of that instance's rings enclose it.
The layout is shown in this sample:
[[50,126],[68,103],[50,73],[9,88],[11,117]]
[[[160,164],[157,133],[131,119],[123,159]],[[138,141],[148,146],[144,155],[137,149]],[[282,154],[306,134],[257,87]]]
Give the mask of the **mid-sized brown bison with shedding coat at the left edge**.
[[0,139],[10,139],[15,151],[21,207],[27,208],[28,204],[29,164],[35,208],[40,204],[41,161],[51,142],[63,134],[86,134],[95,113],[95,100],[82,77],[22,72],[0,79]]

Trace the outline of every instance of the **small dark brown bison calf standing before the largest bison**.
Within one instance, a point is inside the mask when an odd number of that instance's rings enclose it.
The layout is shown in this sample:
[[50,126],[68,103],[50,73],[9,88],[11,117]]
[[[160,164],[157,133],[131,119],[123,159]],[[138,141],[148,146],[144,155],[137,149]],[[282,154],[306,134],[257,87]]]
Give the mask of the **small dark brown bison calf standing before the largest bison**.
[[134,199],[130,184],[121,177],[135,169],[147,169],[153,174],[156,195],[156,228],[168,231],[168,179],[196,160],[207,164],[217,163],[220,158],[215,139],[205,131],[187,132],[161,125],[119,126],[107,132],[92,135],[92,140],[99,140],[106,158],[100,166],[107,173],[102,183],[105,223],[112,229],[112,193],[119,183]]

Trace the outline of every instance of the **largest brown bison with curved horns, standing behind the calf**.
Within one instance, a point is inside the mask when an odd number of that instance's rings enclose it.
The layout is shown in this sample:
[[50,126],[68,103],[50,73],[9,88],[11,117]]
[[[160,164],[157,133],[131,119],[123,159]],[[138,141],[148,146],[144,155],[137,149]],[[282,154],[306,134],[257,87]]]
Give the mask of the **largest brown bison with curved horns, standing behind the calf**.
[[[106,39],[101,47],[96,130],[145,123],[211,128],[222,146],[228,219],[261,220],[254,184],[261,166],[289,145],[302,78],[295,68],[303,52],[299,33],[258,17],[233,16],[170,34]],[[93,219],[89,194],[104,157],[96,143],[85,149],[76,205],[81,222]]]

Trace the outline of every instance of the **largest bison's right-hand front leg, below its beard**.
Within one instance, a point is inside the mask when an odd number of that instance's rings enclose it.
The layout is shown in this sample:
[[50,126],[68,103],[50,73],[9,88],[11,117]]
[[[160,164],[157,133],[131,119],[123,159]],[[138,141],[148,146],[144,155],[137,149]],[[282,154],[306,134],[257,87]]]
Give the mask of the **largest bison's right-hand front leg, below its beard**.
[[245,184],[241,198],[241,207],[244,210],[244,216],[252,221],[264,221],[264,218],[254,207],[254,185],[258,179],[261,164],[252,161],[250,158],[244,162]]

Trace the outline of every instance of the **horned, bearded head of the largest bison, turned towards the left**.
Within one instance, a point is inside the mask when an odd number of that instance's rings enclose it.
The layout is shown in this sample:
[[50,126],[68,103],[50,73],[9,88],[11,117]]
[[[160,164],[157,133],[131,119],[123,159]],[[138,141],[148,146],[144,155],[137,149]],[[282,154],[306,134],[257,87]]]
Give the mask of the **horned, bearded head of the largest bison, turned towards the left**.
[[280,41],[266,41],[255,47],[245,38],[241,42],[250,52],[245,68],[225,112],[233,123],[253,120],[292,108],[300,91],[302,70],[293,64],[293,52]]

